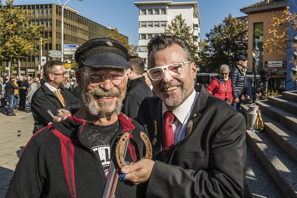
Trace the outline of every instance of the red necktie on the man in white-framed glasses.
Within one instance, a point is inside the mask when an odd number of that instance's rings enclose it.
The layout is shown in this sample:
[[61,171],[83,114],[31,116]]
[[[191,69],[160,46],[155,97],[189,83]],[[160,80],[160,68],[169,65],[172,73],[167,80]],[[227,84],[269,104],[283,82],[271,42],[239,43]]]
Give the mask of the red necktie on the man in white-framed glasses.
[[166,111],[164,113],[165,121],[163,127],[163,136],[162,136],[162,154],[163,159],[165,153],[173,146],[174,144],[174,134],[172,128],[172,122],[174,120],[174,115],[171,111]]

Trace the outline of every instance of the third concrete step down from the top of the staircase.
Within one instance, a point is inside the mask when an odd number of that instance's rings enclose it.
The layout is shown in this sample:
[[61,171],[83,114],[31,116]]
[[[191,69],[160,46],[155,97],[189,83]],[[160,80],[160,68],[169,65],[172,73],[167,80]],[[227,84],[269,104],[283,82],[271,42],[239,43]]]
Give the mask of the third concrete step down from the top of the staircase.
[[297,115],[296,114],[290,113],[286,110],[283,110],[280,107],[270,104],[268,100],[256,101],[255,103],[259,105],[259,108],[263,113],[269,115],[277,122],[282,123],[288,128],[297,132]]

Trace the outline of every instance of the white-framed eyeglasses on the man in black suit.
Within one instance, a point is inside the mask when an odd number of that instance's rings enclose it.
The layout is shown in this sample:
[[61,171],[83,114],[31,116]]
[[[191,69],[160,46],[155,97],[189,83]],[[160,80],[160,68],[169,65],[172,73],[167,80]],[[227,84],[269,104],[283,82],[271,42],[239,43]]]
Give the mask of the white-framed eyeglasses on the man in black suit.
[[154,67],[147,70],[149,77],[152,80],[161,80],[164,76],[164,70],[166,69],[170,76],[176,77],[182,75],[184,72],[184,64],[191,63],[191,61],[184,63],[173,63],[170,65]]

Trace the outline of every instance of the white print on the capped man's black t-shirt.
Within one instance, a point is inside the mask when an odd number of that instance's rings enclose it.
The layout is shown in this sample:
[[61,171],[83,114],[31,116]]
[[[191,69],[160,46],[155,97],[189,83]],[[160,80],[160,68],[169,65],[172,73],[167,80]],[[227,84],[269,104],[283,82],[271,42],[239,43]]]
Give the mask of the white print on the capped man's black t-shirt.
[[95,146],[92,149],[97,155],[99,155],[105,176],[107,176],[110,164],[110,145]]

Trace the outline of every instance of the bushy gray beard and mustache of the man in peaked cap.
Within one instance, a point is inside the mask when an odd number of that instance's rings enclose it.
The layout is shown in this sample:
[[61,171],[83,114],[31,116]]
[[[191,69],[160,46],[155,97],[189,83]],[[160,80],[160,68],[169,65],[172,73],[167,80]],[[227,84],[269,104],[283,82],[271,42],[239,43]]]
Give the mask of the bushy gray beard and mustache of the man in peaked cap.
[[[105,91],[100,87],[96,87],[85,94],[82,94],[83,101],[89,110],[91,115],[98,117],[108,117],[111,115],[119,115],[122,109],[121,90],[119,88],[112,88],[109,91]],[[114,109],[110,109],[112,103],[101,102],[95,98],[95,96],[115,96],[116,104]]]

